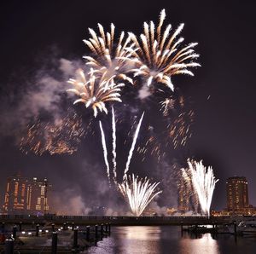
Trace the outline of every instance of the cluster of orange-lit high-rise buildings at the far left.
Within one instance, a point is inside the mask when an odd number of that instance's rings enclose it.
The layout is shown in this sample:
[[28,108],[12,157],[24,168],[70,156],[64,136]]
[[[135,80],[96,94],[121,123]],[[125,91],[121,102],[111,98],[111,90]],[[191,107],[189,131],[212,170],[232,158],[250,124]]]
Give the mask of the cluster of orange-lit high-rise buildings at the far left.
[[49,212],[49,183],[17,174],[7,179],[3,214],[44,214]]

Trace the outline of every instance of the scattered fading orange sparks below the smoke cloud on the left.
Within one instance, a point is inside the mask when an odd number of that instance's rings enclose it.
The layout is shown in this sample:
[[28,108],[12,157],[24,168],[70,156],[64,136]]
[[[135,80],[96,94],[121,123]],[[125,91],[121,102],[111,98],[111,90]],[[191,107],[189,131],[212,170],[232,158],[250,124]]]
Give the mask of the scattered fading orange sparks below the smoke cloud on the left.
[[42,155],[72,154],[77,151],[85,130],[82,119],[77,114],[68,114],[55,123],[41,122],[28,125],[26,133],[21,137],[20,150],[23,153],[32,152]]

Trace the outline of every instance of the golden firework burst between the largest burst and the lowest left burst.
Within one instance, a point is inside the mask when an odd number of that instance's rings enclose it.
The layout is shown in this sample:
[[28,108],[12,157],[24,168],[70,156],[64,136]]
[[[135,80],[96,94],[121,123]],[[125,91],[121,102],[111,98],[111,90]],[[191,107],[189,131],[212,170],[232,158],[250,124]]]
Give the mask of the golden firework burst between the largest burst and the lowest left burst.
[[[84,40],[84,43],[89,47],[92,56],[84,56],[86,64],[96,68],[97,73],[104,74],[106,78],[115,75],[116,78],[127,80],[131,84],[131,78],[125,75],[131,68],[131,51],[133,51],[134,43],[131,44],[131,38],[121,32],[119,39],[115,42],[114,25],[111,24],[110,32],[105,32],[101,24],[98,24],[100,36],[89,28],[91,38]],[[126,37],[126,38],[125,38]]]

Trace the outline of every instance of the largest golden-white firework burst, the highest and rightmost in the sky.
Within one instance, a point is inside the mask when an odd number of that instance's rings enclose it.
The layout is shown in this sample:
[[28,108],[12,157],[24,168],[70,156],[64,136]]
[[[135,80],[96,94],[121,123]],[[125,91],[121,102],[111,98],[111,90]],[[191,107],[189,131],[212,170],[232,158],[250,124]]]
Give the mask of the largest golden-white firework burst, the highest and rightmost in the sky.
[[154,22],[150,21],[150,25],[144,22],[144,33],[141,34],[139,42],[133,33],[129,33],[131,40],[135,43],[136,49],[126,49],[132,53],[132,57],[137,65],[132,69],[134,76],[143,76],[148,79],[148,86],[153,80],[166,84],[167,87],[174,90],[171,77],[177,74],[187,74],[194,76],[189,71],[189,67],[201,66],[194,62],[199,55],[195,54],[193,49],[197,43],[189,43],[189,45],[180,47],[183,38],[177,36],[182,32],[184,24],[180,24],[177,30],[170,35],[172,26],[166,26],[166,30],[161,32],[164,20],[166,19],[166,11],[160,12],[160,21],[156,32]]

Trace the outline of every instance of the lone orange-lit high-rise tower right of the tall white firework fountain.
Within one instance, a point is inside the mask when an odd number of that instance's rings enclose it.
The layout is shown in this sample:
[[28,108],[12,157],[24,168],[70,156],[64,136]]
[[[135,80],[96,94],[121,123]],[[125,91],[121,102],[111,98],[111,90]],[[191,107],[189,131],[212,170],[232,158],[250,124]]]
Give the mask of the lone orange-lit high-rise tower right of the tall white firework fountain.
[[227,179],[227,208],[235,214],[247,214],[249,208],[248,183],[244,176],[234,176]]

